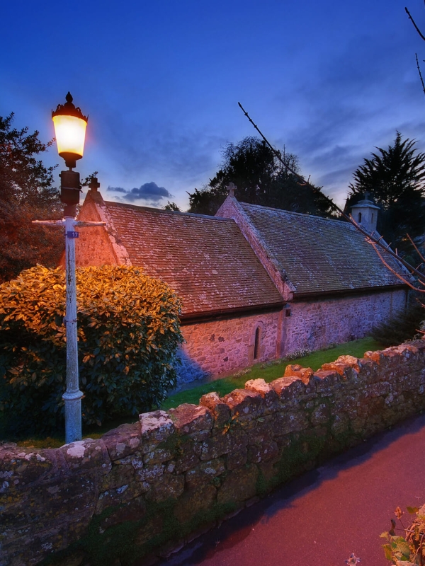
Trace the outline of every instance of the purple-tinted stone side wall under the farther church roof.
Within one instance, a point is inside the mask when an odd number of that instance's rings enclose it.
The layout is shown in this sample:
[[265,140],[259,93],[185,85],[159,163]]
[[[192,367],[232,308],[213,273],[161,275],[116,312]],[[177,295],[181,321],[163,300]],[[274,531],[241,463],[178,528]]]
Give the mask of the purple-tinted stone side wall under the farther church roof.
[[283,352],[319,350],[332,343],[361,338],[368,335],[374,325],[403,311],[406,304],[404,289],[294,302],[290,317],[285,318]]

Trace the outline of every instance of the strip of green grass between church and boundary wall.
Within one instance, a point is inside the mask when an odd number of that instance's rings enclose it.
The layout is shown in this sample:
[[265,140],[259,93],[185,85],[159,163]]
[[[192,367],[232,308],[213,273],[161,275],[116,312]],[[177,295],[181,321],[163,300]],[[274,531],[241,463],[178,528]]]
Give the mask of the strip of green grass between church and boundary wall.
[[[197,405],[199,399],[205,393],[210,393],[211,391],[217,391],[217,393],[222,395],[227,395],[234,389],[244,388],[245,382],[249,379],[259,379],[262,378],[265,381],[273,381],[273,379],[278,379],[282,377],[285,373],[285,367],[288,364],[300,364],[303,367],[311,367],[313,370],[319,369],[322,364],[327,362],[334,362],[337,357],[343,355],[351,355],[354,357],[363,357],[363,354],[368,350],[380,350],[382,346],[379,342],[376,342],[372,338],[362,338],[361,340],[354,340],[353,342],[346,342],[345,344],[339,344],[328,350],[318,350],[302,358],[288,360],[273,360],[272,362],[267,362],[265,364],[256,364],[251,366],[249,369],[239,371],[233,376],[225,377],[223,379],[217,379],[216,381],[211,381],[210,383],[205,383],[203,385],[187,389],[186,391],[181,391],[175,395],[171,395],[162,405],[162,409],[166,410],[169,408],[178,407],[182,403],[194,403]],[[113,422],[108,422],[102,427],[84,427],[83,437],[84,438],[99,438],[108,430],[118,427],[119,424],[123,422],[136,422],[137,417],[123,417],[120,420],[115,420]],[[57,435],[54,437],[40,438],[32,437],[28,435],[28,438],[14,439],[6,437],[4,433],[4,424],[2,425],[2,419],[0,415],[0,441],[8,440],[16,442],[19,446],[25,446],[26,448],[59,448],[64,444],[64,434]]]

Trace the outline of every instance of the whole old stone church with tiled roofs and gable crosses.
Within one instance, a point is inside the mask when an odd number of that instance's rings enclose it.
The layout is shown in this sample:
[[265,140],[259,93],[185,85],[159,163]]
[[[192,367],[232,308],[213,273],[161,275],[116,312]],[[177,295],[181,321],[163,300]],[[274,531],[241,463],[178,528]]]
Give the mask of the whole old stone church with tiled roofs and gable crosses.
[[[356,207],[375,229],[373,203]],[[204,216],[106,202],[91,189],[79,219],[106,226],[79,229],[78,265],[142,267],[181,297],[182,382],[363,337],[407,305],[407,287],[351,224],[246,204],[232,190]]]

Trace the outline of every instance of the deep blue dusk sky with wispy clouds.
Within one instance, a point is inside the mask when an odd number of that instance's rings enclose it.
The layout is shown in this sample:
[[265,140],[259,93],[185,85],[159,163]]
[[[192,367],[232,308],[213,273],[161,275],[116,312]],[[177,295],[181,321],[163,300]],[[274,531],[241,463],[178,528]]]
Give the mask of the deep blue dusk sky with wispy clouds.
[[[425,31],[422,0],[5,2],[0,115],[47,141],[70,91],[89,114],[81,177],[98,171],[105,200],[186,210],[226,144],[256,134],[239,101],[341,205],[397,130],[425,150],[425,42],[404,6]],[[58,183],[56,148],[42,159]]]

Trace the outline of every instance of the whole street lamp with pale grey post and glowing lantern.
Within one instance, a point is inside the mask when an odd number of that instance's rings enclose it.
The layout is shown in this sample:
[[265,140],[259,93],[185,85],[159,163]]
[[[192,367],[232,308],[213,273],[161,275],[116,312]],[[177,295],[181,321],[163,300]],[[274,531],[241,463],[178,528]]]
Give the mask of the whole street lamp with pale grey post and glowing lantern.
[[62,399],[65,405],[65,441],[81,440],[81,398],[78,375],[78,342],[77,342],[77,287],[75,283],[75,238],[79,232],[77,226],[104,226],[104,222],[84,222],[75,220],[77,204],[79,204],[79,173],[72,171],[77,159],[81,159],[84,151],[84,139],[88,117],[80,108],[72,103],[70,93],[67,102],[60,104],[52,111],[55,125],[57,151],[65,160],[68,171],[60,173],[61,200],[64,203],[64,219],[58,221],[35,220],[37,224],[64,226],[65,228],[65,270],[66,270],[66,311],[64,323],[67,337],[67,390]]

